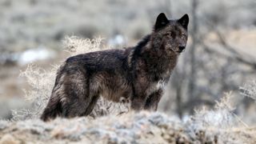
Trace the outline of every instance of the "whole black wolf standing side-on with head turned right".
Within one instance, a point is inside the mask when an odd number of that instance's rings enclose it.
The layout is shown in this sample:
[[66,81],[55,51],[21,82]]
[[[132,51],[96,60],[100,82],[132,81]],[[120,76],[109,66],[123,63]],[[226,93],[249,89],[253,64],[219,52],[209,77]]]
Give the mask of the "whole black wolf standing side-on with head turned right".
[[133,110],[157,110],[163,88],[185,50],[187,14],[168,20],[159,14],[154,30],[137,46],[78,54],[59,68],[41,119],[86,116],[100,96],[130,101]]

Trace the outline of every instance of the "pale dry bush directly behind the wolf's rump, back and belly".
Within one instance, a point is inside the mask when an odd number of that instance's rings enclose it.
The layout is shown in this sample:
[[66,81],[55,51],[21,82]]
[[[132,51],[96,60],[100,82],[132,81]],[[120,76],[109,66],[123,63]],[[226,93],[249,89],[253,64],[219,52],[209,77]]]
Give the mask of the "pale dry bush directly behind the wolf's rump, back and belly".
[[[82,39],[75,36],[66,37],[63,41],[65,51],[69,56],[84,54],[96,50],[106,50],[109,47],[101,45],[102,38]],[[56,72],[60,65],[52,65],[51,70],[44,70],[39,66],[30,64],[20,76],[26,78],[30,89],[24,90],[25,98],[31,103],[30,110],[13,110],[14,120],[24,120],[29,118],[38,118],[42,114],[54,86]],[[108,102],[103,98],[99,98],[97,105],[90,114],[98,117],[106,114],[122,114],[128,110],[128,104],[119,104]]]

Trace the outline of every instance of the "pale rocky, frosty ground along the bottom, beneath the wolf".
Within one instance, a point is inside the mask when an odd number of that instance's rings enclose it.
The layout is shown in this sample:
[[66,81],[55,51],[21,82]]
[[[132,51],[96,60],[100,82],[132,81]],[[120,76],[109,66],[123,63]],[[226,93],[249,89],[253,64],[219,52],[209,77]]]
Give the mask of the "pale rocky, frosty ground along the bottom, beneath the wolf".
[[196,126],[162,113],[0,122],[0,143],[256,143],[256,128]]

